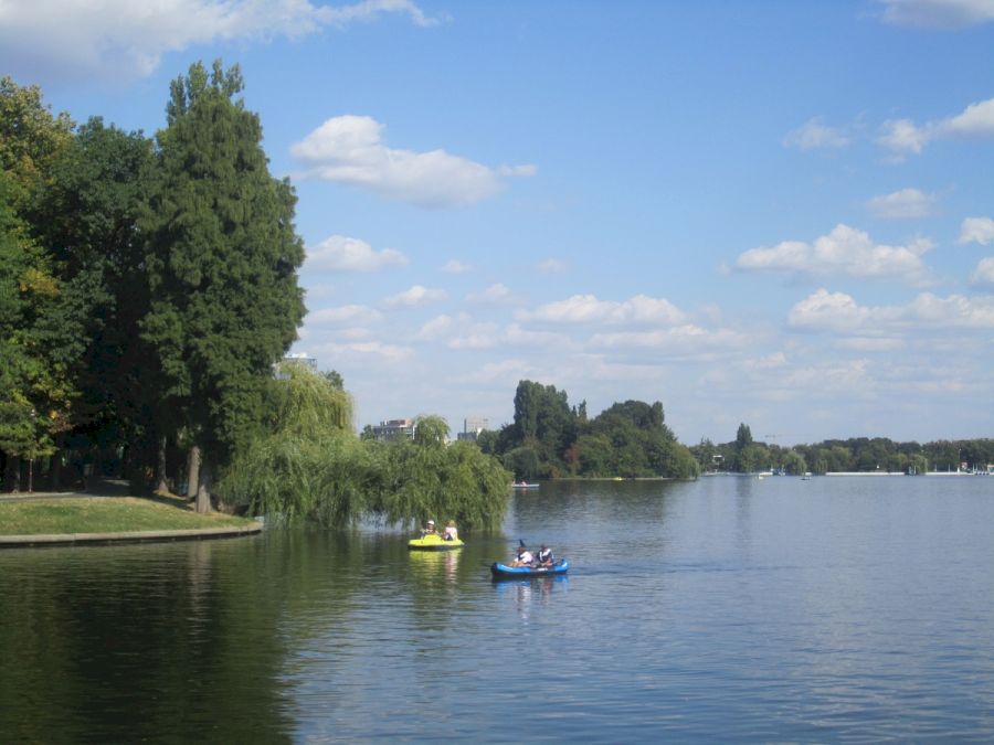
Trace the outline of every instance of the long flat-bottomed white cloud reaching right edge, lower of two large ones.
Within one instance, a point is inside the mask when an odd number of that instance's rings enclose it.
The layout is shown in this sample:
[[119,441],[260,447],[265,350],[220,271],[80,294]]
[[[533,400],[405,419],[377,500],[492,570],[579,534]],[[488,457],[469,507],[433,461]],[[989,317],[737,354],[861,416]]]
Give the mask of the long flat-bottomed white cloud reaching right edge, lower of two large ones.
[[795,329],[832,331],[852,336],[878,336],[887,331],[922,328],[994,329],[994,298],[922,292],[903,306],[864,307],[845,292],[818,289],[787,313]]

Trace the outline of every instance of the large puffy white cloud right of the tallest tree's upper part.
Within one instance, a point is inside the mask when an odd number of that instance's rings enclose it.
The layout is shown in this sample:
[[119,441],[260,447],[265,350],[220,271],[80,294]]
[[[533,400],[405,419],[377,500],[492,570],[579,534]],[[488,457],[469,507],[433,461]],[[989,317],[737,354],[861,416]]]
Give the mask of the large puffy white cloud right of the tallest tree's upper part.
[[334,117],[290,152],[308,164],[305,177],[363,187],[419,206],[473,204],[503,185],[501,173],[444,150],[389,148],[382,130],[383,125],[372,117]]

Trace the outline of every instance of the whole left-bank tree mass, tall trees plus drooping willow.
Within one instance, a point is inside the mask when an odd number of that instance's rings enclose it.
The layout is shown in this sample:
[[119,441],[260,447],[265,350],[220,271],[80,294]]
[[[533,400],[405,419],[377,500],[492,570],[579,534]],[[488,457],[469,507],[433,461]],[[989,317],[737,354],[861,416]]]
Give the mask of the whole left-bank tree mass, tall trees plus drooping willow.
[[305,312],[304,247],[242,88],[236,66],[192,65],[147,138],[0,81],[4,489],[93,470],[287,523],[499,525],[510,475],[443,447],[442,419],[367,443],[340,375],[274,375]]

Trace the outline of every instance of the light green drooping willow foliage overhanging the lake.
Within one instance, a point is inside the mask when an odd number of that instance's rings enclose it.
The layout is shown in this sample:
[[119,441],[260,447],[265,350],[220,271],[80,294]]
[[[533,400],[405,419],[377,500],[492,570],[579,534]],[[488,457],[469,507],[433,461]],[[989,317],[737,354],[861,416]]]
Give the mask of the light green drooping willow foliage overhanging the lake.
[[448,425],[417,421],[414,441],[351,434],[351,400],[329,377],[283,363],[268,386],[267,432],[235,451],[216,491],[286,524],[341,526],[363,519],[459,529],[500,525],[510,475],[472,443],[445,446]]

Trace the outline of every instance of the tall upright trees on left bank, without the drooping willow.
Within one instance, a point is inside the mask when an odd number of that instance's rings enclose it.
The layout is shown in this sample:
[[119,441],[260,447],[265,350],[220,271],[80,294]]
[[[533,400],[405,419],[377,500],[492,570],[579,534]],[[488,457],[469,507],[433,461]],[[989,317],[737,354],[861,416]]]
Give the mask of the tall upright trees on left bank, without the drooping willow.
[[[177,78],[154,139],[53,116],[0,83],[0,451],[139,487],[195,454],[215,468],[258,427],[272,365],[304,316],[294,194],[273,178],[237,67]],[[96,464],[87,462],[89,460]]]

